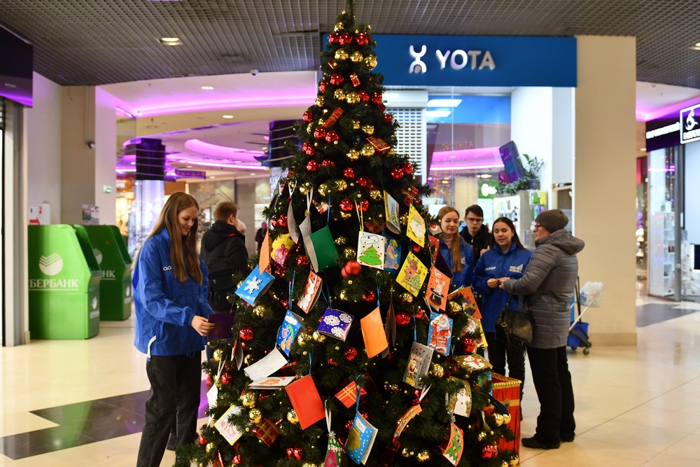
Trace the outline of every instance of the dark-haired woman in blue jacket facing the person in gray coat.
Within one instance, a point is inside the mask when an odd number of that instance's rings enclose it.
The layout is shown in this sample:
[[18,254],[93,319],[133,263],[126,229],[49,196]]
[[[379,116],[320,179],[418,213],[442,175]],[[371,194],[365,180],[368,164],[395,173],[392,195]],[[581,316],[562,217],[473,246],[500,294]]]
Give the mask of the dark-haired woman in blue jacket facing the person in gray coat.
[[[508,294],[499,288],[499,279],[520,279],[530,256],[531,253],[520,243],[513,222],[507,217],[499,217],[493,221],[491,249],[479,258],[474,270],[474,287],[483,296],[482,326],[489,344],[489,361],[493,372],[505,375],[507,360],[508,376],[521,381],[520,398],[525,381],[525,348],[509,347],[507,342],[496,340],[496,319],[508,300]],[[508,308],[518,309],[517,296],[511,298]]]

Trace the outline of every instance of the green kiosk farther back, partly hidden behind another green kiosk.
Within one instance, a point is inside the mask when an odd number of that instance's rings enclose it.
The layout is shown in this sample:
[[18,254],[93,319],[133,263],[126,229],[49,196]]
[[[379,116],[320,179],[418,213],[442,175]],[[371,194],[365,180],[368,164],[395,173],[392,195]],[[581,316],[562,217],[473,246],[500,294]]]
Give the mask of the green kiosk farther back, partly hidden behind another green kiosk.
[[102,270],[99,281],[99,319],[124,321],[131,316],[132,260],[116,225],[85,225],[92,252]]

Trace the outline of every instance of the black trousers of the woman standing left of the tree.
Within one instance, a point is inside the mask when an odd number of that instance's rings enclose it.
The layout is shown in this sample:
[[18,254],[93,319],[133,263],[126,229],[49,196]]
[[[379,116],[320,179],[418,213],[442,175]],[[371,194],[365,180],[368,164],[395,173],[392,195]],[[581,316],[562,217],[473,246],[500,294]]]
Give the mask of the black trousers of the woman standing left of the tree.
[[202,352],[193,352],[153,355],[146,362],[151,391],[146,400],[146,424],[141,433],[137,467],[160,466],[174,424],[178,445],[189,444],[197,437],[201,361]]

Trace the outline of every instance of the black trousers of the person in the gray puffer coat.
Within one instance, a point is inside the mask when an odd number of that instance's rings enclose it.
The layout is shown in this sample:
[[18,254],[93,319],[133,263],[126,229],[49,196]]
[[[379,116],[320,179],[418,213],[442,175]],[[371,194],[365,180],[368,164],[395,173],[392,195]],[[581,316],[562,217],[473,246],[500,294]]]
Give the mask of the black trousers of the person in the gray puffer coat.
[[561,434],[573,434],[573,386],[566,361],[566,347],[558,349],[527,348],[532,381],[540,400],[535,438],[544,443],[560,440]]

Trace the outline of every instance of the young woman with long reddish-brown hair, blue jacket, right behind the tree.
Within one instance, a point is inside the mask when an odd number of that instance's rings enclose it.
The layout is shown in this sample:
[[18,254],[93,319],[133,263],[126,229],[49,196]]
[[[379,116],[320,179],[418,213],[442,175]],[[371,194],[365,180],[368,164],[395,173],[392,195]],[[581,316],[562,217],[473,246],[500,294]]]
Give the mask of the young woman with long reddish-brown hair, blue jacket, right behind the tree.
[[440,254],[447,261],[452,271],[452,286],[468,287],[472,285],[474,270],[474,251],[459,235],[459,212],[451,206],[445,206],[437,212],[440,221]]

